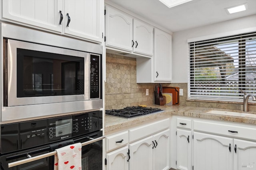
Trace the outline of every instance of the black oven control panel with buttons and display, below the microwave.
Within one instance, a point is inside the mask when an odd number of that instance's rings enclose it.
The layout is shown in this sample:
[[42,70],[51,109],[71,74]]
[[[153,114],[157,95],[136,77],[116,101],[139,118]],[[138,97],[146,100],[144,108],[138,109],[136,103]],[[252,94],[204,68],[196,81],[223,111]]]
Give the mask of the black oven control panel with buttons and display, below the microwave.
[[63,141],[102,129],[102,111],[1,125],[1,153]]

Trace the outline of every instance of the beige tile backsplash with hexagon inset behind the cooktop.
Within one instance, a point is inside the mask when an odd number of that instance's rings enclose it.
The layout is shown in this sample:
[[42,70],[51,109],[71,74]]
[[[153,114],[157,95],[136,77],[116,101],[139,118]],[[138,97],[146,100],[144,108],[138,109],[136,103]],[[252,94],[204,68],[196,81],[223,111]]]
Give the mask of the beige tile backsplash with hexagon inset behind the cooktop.
[[136,83],[136,59],[131,57],[106,53],[105,92],[106,109],[154,104],[154,84]]

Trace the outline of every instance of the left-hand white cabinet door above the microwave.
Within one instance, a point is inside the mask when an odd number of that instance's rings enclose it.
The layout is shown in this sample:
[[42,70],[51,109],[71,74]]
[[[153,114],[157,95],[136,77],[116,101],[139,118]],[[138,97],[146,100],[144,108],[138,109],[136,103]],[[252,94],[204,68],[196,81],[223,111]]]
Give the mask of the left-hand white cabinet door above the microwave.
[[2,0],[2,20],[61,33],[62,6],[62,0]]

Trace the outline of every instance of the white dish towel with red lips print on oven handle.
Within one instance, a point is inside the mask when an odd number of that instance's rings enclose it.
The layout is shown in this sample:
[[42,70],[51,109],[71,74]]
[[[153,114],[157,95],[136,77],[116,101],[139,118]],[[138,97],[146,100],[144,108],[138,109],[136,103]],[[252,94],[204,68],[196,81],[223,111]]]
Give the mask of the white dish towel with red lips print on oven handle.
[[54,170],[82,170],[82,145],[74,143],[56,149]]

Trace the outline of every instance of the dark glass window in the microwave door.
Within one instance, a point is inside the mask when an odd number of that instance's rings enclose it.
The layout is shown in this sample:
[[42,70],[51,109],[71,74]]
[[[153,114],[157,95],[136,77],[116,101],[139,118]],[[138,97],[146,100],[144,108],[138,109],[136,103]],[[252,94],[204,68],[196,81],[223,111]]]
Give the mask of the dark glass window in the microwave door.
[[17,97],[84,94],[84,58],[17,49]]

